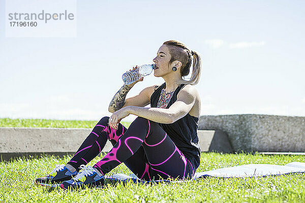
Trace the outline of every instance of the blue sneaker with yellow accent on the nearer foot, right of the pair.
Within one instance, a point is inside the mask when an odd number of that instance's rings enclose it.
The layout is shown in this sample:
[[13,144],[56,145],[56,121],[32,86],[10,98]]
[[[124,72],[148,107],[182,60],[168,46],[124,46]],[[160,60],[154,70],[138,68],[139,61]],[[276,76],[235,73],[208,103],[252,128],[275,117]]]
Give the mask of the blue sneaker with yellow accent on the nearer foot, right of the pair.
[[92,166],[80,165],[82,171],[80,171],[77,176],[69,181],[64,181],[60,184],[63,189],[72,188],[84,188],[89,187],[100,187],[104,185],[104,176],[99,176]]

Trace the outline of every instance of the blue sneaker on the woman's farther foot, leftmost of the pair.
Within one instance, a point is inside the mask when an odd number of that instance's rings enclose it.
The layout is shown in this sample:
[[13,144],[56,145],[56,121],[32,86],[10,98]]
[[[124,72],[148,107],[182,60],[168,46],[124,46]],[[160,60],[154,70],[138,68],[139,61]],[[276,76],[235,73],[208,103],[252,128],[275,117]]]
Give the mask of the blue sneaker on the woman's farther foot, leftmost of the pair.
[[52,186],[53,184],[58,184],[63,181],[70,180],[76,175],[77,175],[77,171],[72,173],[71,171],[69,171],[68,168],[66,168],[66,165],[56,164],[56,167],[49,175],[43,178],[36,179],[35,183],[43,186]]

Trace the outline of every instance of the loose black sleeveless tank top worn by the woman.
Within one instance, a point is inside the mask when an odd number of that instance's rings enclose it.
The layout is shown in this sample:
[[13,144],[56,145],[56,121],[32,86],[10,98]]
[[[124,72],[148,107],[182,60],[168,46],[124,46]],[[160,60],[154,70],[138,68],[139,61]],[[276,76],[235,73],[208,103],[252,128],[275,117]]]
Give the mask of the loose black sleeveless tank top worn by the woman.
[[[153,94],[150,96],[150,107],[157,107],[161,91],[166,83],[163,83]],[[177,94],[186,84],[180,84],[174,91],[170,101],[166,107],[168,109],[176,100]],[[199,118],[191,116],[189,113],[180,118],[179,120],[165,124],[159,123],[159,125],[168,134],[170,139],[174,142],[177,148],[186,156],[186,158],[194,166],[196,170],[200,164],[200,146],[197,135]]]

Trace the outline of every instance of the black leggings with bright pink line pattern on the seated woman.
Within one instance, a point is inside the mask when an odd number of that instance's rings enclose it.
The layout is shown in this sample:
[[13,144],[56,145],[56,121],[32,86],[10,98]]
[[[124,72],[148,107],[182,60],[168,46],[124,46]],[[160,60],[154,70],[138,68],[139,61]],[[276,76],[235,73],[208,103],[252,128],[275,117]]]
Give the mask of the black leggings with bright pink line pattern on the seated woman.
[[104,117],[98,122],[68,162],[77,170],[99,155],[109,139],[113,148],[94,165],[104,175],[120,163],[147,181],[169,177],[190,179],[194,175],[190,161],[158,123],[137,117],[128,129],[119,123],[115,130],[108,120],[109,117]]

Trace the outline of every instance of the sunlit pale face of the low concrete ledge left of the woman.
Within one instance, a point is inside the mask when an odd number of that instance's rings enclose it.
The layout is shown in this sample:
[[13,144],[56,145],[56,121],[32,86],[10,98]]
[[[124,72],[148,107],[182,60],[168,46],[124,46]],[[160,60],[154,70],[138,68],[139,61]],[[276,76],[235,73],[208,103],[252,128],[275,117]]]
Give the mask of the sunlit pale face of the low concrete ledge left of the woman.
[[[91,128],[1,127],[0,153],[75,152]],[[102,151],[112,148],[108,141]]]

